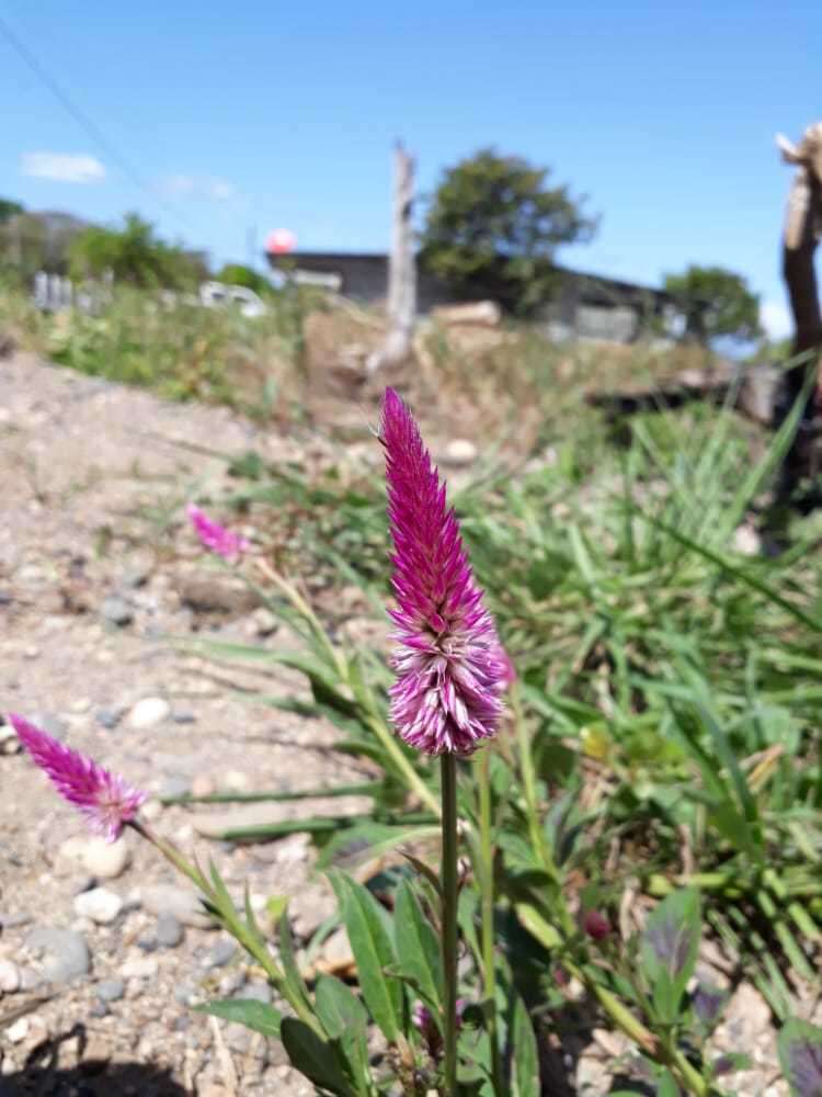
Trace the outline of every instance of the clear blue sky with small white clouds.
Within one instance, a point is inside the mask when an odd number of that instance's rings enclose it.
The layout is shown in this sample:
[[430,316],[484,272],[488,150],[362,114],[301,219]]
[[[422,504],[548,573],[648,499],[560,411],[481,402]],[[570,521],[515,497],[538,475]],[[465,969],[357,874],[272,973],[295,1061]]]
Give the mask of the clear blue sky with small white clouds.
[[822,116],[818,0],[0,0],[0,16],[146,184],[0,36],[0,195],[31,207],[139,210],[217,261],[276,227],[377,250],[395,138],[422,191],[493,145],[602,215],[560,261],[650,284],[722,264],[785,323],[773,138]]

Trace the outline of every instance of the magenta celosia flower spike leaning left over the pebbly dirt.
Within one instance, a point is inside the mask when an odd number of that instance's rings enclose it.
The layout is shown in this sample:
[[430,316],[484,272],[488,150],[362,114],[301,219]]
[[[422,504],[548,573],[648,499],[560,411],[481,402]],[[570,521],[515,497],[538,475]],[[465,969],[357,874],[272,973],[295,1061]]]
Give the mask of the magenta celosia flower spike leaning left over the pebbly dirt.
[[9,722],[64,800],[79,807],[94,830],[114,841],[123,826],[137,815],[146,793],[53,739],[22,716],[10,714]]

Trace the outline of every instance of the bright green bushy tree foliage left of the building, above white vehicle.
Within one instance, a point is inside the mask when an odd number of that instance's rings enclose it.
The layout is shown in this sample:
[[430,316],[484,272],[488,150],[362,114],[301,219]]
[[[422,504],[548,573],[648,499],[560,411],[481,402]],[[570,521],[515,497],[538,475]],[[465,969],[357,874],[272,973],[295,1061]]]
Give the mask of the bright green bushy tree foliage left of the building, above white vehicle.
[[161,240],[136,213],[126,214],[123,228],[90,225],[71,241],[72,278],[100,278],[106,271],[115,282],[170,290],[192,289],[208,274],[203,256]]

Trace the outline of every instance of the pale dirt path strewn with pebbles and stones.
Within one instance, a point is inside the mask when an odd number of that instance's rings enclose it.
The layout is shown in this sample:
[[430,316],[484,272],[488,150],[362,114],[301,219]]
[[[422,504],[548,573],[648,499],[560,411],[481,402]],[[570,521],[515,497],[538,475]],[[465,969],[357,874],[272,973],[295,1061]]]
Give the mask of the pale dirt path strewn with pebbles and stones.
[[[197,629],[288,642],[230,591],[227,612],[198,612],[213,579],[182,506],[197,488],[218,487],[224,464],[159,437],[298,455],[296,443],[221,408],[165,404],[25,357],[0,361],[0,712],[28,714],[153,793],[305,789],[355,777],[323,751],[329,728],[226,695],[197,659],[162,638]],[[159,536],[160,516],[179,522],[171,536]],[[295,688],[284,676],[269,682],[272,691]],[[0,736],[8,731],[0,726]],[[179,881],[150,849],[129,837],[129,863],[106,879],[118,866],[100,861],[79,816],[23,755],[2,753],[14,746],[0,742],[0,1094],[310,1093],[277,1048],[236,1026],[215,1036],[192,1013],[215,994],[264,998],[266,988],[228,939],[184,925],[196,920],[179,908],[184,896],[158,897],[157,884]],[[208,829],[208,818],[156,801],[149,813],[163,833],[216,855],[229,884],[249,877],[259,905],[296,894],[304,929],[330,909],[301,838],[215,846],[192,825]],[[95,883],[115,897],[100,898]],[[100,920],[114,908],[112,920]],[[43,936],[54,929],[71,934]],[[180,931],[179,943],[164,943]],[[89,973],[66,981],[61,971],[82,943]],[[57,977],[44,984],[55,974],[49,963]],[[52,1000],[3,1026],[48,991]]]

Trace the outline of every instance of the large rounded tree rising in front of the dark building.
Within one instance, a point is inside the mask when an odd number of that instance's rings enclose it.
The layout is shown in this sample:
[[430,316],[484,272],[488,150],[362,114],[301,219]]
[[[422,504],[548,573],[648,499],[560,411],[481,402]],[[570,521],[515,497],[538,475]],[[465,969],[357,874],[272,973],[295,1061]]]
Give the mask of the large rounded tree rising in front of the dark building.
[[596,219],[550,169],[481,149],[448,168],[429,202],[420,262],[470,296],[525,314],[547,299],[561,245],[593,237]]

